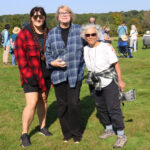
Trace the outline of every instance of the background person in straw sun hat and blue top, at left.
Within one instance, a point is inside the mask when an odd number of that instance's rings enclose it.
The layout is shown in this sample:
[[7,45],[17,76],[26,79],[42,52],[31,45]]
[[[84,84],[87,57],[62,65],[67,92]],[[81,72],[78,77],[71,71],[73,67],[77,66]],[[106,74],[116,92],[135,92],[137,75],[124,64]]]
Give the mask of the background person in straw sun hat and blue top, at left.
[[15,39],[17,37],[17,34],[20,32],[20,28],[19,27],[14,27],[12,34],[10,36],[10,45],[11,45],[11,55],[12,55],[12,65],[15,66],[16,65],[16,59],[15,59],[15,54],[14,54],[14,49],[15,49]]

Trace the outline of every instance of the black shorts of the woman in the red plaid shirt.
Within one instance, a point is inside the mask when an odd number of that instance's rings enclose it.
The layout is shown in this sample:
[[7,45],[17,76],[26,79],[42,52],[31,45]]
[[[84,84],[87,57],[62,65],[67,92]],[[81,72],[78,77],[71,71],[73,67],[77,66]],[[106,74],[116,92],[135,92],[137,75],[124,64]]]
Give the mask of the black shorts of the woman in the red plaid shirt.
[[[47,90],[49,90],[51,86],[51,80],[49,78],[45,79],[45,84]],[[27,83],[23,83],[22,88],[24,90],[24,93],[39,92],[39,88],[37,86],[31,86],[30,84]]]

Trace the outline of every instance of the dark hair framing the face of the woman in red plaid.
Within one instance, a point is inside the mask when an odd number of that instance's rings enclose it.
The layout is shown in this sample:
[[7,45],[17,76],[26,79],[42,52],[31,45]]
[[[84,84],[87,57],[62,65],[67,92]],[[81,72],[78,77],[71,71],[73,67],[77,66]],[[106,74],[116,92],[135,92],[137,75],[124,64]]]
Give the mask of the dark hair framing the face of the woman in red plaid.
[[32,8],[31,11],[30,11],[30,18],[34,15],[35,12],[40,12],[41,15],[43,15],[45,17],[45,21],[44,21],[44,24],[43,24],[42,28],[43,29],[47,28],[47,25],[46,25],[46,12],[45,12],[44,8],[43,7],[34,7],[34,8]]

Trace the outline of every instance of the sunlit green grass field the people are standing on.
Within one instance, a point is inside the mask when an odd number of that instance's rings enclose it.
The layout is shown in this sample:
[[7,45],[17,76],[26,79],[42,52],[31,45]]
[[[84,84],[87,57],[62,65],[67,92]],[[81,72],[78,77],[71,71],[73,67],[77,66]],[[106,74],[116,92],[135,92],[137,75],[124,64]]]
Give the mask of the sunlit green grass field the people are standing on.
[[[116,48],[117,41],[113,42]],[[117,49],[117,48],[116,48]],[[122,107],[125,133],[128,142],[123,149],[150,150],[150,49],[142,49],[139,38],[138,51],[134,58],[120,58],[126,91],[135,88],[136,100],[125,102]],[[11,57],[11,56],[10,56]],[[11,58],[10,58],[11,63]],[[103,132],[103,126],[96,117],[94,101],[89,95],[85,81],[81,89],[83,139],[80,144],[63,143],[59,120],[57,118],[57,104],[54,90],[51,89],[48,98],[47,126],[53,133],[51,137],[38,134],[38,119],[35,115],[30,127],[32,146],[29,150],[111,150],[116,137],[100,140],[98,136]],[[0,48],[0,150],[19,150],[21,135],[21,115],[25,106],[23,90],[20,86],[20,76],[17,66],[2,63],[2,49]]]

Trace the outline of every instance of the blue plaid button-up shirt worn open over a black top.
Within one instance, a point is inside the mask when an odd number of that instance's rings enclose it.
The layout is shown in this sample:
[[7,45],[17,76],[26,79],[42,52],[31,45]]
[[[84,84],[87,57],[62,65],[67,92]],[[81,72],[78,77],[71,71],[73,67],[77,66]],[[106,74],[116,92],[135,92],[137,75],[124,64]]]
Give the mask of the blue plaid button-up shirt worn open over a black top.
[[[45,56],[47,67],[53,69],[51,80],[54,85],[68,80],[69,86],[73,88],[76,86],[76,82],[81,81],[83,78],[85,64],[80,31],[80,25],[71,24],[66,46],[62,40],[59,25],[48,33]],[[51,61],[58,58],[65,61],[67,67],[56,68],[50,65]]]

